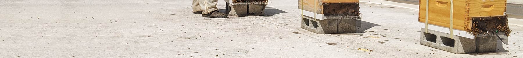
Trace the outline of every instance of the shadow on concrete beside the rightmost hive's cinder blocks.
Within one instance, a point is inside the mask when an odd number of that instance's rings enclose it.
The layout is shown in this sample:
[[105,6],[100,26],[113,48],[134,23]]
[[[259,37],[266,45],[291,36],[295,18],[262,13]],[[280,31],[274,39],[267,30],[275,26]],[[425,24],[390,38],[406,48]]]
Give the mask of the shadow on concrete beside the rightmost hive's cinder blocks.
[[476,53],[467,53],[467,54],[470,54],[470,55],[473,55],[473,56],[476,56],[476,55],[499,55],[499,54],[507,54],[507,50],[505,48],[503,48],[503,42],[501,42],[501,40],[497,40],[497,43],[496,43],[496,51],[492,51],[492,52],[476,52]]

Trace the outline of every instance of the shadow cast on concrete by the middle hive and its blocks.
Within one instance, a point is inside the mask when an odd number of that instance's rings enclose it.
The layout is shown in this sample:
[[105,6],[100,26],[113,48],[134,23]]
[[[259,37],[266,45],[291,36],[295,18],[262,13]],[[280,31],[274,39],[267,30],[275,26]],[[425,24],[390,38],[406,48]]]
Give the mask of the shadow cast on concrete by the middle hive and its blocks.
[[356,33],[337,33],[337,34],[331,34],[331,35],[361,35],[361,34],[365,33],[363,31],[366,31],[375,26],[381,26],[381,25],[373,24],[371,22],[361,20],[361,27],[356,30]]

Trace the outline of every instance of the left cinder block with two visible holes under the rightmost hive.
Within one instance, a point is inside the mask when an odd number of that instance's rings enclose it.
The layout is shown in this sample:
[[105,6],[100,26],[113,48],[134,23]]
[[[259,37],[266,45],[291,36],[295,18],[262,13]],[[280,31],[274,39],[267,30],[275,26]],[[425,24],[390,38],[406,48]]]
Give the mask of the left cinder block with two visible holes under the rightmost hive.
[[421,39],[420,44],[428,47],[444,50],[451,53],[463,54],[473,53],[476,51],[476,40],[452,35],[453,39],[449,38],[450,34],[445,32],[439,32],[428,29],[425,32],[425,28],[421,28]]

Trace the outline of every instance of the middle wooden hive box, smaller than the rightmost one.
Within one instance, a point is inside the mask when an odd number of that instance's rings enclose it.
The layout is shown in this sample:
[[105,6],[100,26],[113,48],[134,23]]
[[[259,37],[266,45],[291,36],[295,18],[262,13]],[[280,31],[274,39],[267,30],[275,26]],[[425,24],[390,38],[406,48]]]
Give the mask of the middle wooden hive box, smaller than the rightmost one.
[[359,0],[299,0],[298,8],[320,16],[359,16]]

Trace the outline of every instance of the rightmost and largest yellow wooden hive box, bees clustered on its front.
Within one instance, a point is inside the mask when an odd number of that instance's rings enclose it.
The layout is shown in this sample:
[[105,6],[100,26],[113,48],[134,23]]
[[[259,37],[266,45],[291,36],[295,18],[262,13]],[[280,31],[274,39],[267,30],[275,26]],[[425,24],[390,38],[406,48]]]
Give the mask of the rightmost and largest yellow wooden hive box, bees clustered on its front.
[[[486,17],[499,17],[499,19],[487,19],[487,20],[502,20],[499,25],[506,22],[506,2],[507,0],[453,0],[453,19],[452,29],[467,31],[469,33],[480,33],[475,26],[474,19],[486,18]],[[428,14],[427,13],[428,5]],[[419,1],[419,22],[425,23],[426,15],[428,15],[428,24],[436,25],[440,27],[450,28],[450,11],[451,11],[450,0],[427,0]],[[503,18],[503,19],[502,19]],[[477,22],[476,22],[477,23]],[[430,28],[428,28],[430,29]],[[508,31],[508,27],[498,28]],[[474,34],[474,35],[475,35]]]

